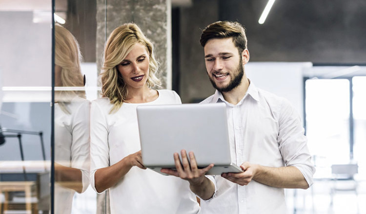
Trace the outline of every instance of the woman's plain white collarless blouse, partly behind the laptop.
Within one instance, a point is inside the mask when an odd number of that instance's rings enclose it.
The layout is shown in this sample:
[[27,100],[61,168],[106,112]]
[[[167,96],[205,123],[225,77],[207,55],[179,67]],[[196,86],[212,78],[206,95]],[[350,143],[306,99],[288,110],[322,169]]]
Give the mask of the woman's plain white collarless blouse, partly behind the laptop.
[[[181,104],[176,92],[158,91],[159,97],[153,102],[123,103],[112,114],[109,113],[112,104],[108,98],[92,102],[90,184],[94,190],[97,169],[113,165],[141,150],[137,106]],[[173,154],[171,156],[173,159]],[[200,209],[187,181],[137,166],[109,190],[112,214],[197,214]]]

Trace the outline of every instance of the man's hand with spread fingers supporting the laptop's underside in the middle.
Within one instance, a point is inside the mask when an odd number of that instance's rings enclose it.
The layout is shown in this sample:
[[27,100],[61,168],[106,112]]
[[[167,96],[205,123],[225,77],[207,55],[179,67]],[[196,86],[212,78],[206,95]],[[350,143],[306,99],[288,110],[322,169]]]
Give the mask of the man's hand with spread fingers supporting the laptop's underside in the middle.
[[175,168],[177,170],[164,168],[161,170],[161,172],[168,174],[168,175],[182,178],[184,180],[188,180],[188,182],[191,185],[200,185],[201,183],[203,183],[203,180],[205,178],[204,175],[214,165],[210,164],[203,169],[199,169],[193,152],[189,152],[190,164],[188,161],[187,153],[184,149],[181,151],[181,156],[182,156],[182,162],[179,159],[179,154],[174,153],[174,163],[175,163]]

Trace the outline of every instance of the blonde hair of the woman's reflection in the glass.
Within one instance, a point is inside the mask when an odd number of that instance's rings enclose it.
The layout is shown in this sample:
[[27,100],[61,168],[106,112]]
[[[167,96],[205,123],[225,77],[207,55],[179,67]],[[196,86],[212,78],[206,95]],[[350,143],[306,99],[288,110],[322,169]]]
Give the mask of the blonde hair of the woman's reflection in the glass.
[[[76,38],[64,27],[55,24],[55,65],[61,67],[61,87],[83,87],[84,78],[80,64],[82,56]],[[55,101],[70,113],[67,104],[76,97],[85,98],[85,90],[57,90]]]

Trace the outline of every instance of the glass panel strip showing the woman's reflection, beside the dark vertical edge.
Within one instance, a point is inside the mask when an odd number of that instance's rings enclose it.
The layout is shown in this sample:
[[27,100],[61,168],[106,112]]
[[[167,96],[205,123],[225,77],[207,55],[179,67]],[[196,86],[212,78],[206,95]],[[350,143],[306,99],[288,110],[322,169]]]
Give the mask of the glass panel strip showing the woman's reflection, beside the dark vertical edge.
[[[96,0],[55,0],[54,213],[96,214],[90,101],[97,98]],[[103,212],[98,212],[103,213]]]

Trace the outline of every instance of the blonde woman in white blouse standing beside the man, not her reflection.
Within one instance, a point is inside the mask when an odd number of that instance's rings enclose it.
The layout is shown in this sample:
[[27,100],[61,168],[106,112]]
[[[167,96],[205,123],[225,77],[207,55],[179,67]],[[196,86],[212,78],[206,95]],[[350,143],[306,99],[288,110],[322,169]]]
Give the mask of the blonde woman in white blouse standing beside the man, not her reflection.
[[196,214],[189,184],[142,163],[136,107],[180,104],[172,90],[159,89],[152,43],[136,24],[109,36],[102,66],[102,98],[91,106],[91,186],[109,189],[112,214]]

